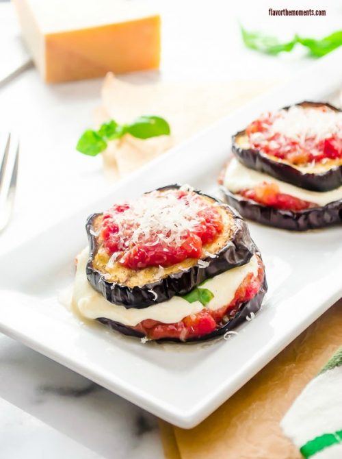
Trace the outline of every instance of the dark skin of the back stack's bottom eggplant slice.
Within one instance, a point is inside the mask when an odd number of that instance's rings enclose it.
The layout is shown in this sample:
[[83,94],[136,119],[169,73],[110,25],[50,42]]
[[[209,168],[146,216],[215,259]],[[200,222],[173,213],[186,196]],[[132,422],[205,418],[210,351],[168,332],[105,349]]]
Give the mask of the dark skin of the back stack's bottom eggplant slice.
[[278,210],[235,195],[224,186],[221,186],[220,189],[226,202],[245,219],[257,221],[263,225],[292,231],[307,231],[342,223],[342,199],[317,208],[298,211]]

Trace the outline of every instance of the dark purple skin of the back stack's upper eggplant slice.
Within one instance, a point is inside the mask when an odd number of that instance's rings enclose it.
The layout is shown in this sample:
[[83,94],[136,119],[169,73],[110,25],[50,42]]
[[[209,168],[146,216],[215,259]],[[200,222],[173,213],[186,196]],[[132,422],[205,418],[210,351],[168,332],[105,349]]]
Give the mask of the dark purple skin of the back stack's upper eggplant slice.
[[[330,105],[330,103],[304,101],[295,105],[302,107],[327,106],[335,112],[341,112],[341,110]],[[284,110],[287,109],[289,109],[289,107],[284,108]],[[257,149],[242,149],[237,144],[236,139],[238,136],[244,134],[245,131],[240,131],[232,137],[232,151],[239,162],[249,169],[264,172],[276,179],[282,180],[282,182],[287,182],[299,186],[300,188],[305,188],[306,190],[330,191],[342,185],[342,165],[334,166],[328,169],[328,171],[317,174],[303,173],[289,164],[272,160]]]

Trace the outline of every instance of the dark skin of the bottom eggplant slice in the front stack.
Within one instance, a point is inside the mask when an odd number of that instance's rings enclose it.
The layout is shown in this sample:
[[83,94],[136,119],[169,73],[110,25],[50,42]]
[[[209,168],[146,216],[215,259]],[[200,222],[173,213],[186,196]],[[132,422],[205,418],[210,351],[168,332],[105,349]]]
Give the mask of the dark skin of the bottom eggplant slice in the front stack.
[[[167,342],[173,342],[173,343],[196,343],[200,341],[205,341],[205,340],[210,340],[213,338],[218,338],[219,336],[224,335],[226,332],[230,332],[231,330],[235,329],[241,323],[246,322],[247,317],[251,317],[251,312],[253,314],[256,314],[260,308],[261,308],[261,303],[263,302],[263,297],[265,297],[265,293],[267,292],[267,281],[266,277],[264,276],[263,278],[263,284],[261,284],[261,288],[257,295],[255,295],[250,301],[246,301],[245,303],[242,303],[241,306],[239,307],[239,310],[235,314],[235,316],[228,321],[225,325],[222,327],[214,330],[212,333],[209,333],[205,336],[200,336],[199,338],[190,338],[189,340],[186,341],[181,341],[176,338],[162,338],[160,340],[155,340],[156,342],[161,342],[161,341],[167,341]],[[115,330],[116,332],[120,332],[124,335],[127,336],[134,336],[135,338],[144,338],[144,334],[141,332],[137,332],[137,330],[133,330],[131,327],[127,327],[127,325],[122,325],[122,323],[114,322],[111,321],[110,319],[106,319],[105,317],[100,317],[98,319],[99,322],[103,323],[104,325],[107,325],[111,330]]]

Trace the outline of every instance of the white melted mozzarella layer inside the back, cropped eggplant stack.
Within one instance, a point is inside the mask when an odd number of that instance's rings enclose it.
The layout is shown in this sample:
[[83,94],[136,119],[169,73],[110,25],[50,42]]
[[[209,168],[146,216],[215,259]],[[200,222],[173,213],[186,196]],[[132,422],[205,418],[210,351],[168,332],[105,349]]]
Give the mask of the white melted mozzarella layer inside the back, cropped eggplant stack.
[[274,177],[262,172],[253,171],[241,164],[236,158],[233,158],[226,169],[224,175],[224,186],[233,193],[239,193],[241,190],[247,188],[254,188],[263,182],[277,184],[280,193],[303,199],[319,204],[319,206],[326,206],[326,204],[342,199],[342,186],[331,191],[310,191],[304,188],[299,188],[285,182],[281,182]]

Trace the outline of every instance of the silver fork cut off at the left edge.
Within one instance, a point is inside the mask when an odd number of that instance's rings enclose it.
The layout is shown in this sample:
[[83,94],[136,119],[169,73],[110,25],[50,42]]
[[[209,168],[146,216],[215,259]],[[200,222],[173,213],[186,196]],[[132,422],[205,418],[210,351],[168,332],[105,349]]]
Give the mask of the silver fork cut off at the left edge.
[[0,232],[10,221],[18,177],[19,143],[8,134],[0,151]]

